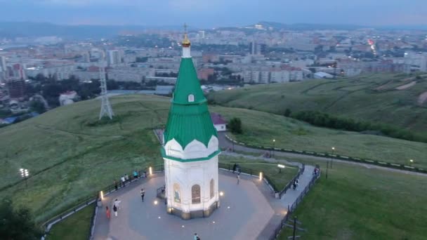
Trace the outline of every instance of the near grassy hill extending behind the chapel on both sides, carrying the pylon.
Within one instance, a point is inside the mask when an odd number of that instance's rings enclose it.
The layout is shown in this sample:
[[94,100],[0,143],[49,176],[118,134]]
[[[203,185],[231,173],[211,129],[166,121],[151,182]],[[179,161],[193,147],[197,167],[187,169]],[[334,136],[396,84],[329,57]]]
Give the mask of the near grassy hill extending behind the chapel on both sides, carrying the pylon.
[[[111,102],[116,115],[111,122],[98,122],[100,101],[88,100],[0,128],[0,197],[12,196],[15,204],[29,206],[37,220],[46,220],[124,173],[161,164],[151,128],[165,124],[170,99],[126,95]],[[242,140],[267,143],[276,138],[276,146],[313,150],[335,145],[339,154],[383,161],[411,157],[418,166],[427,164],[424,143],[316,128],[249,109],[210,109],[226,119],[242,118],[244,134],[237,136]],[[28,187],[19,168],[29,169]]]

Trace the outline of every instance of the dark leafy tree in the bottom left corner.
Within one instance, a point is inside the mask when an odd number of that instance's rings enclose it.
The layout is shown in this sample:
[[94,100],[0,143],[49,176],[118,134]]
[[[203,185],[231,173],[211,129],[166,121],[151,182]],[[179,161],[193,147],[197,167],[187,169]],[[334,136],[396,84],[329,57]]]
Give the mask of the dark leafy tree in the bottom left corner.
[[5,240],[38,240],[42,231],[27,208],[14,209],[11,199],[0,204],[0,236]]

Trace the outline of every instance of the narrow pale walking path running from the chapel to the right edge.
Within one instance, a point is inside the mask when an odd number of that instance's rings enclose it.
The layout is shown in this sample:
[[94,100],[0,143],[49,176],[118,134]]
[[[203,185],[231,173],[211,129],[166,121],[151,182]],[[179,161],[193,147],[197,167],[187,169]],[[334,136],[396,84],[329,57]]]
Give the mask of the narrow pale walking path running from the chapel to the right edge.
[[[232,142],[230,142],[230,140],[228,140],[228,138],[225,138],[224,132],[218,133],[218,138],[219,138],[219,145],[222,149],[233,149],[234,148],[234,150],[237,152],[249,152],[249,153],[256,153],[256,154],[260,154],[260,155],[267,152],[267,150],[265,150],[265,149],[244,147],[242,145],[233,144]],[[312,156],[312,155],[306,155],[306,154],[296,154],[296,153],[291,153],[291,152],[275,151],[274,155],[275,156],[289,157],[292,159],[313,159],[313,160],[320,160],[320,161],[331,161],[331,158],[329,158],[329,157]],[[405,173],[405,174],[410,174],[410,175],[427,176],[426,173],[405,171],[405,170],[401,170],[401,169],[397,169],[397,168],[387,168],[387,167],[383,167],[383,166],[377,166],[374,164],[362,164],[362,163],[358,163],[355,161],[345,161],[345,160],[341,160],[341,159],[334,159],[334,162],[345,163],[345,164],[353,164],[353,165],[357,165],[357,166],[364,166],[365,168],[376,168],[376,169],[381,169],[381,170],[395,172],[395,173]]]

